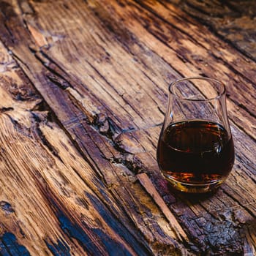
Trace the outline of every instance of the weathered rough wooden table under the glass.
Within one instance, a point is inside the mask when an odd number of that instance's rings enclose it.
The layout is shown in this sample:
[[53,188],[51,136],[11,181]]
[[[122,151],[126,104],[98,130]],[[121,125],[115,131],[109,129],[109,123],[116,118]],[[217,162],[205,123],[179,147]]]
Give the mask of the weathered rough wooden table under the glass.
[[[0,254],[255,255],[255,1],[1,0]],[[172,192],[167,86],[223,80],[236,162]]]

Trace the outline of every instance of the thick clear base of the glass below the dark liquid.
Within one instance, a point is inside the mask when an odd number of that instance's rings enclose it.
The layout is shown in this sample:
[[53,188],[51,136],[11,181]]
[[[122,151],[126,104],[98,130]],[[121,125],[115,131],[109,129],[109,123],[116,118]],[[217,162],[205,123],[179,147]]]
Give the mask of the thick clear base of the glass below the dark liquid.
[[200,183],[185,183],[181,181],[177,181],[172,176],[163,173],[163,176],[167,181],[169,181],[170,185],[173,189],[176,189],[181,192],[187,193],[208,193],[214,192],[224,181],[227,177],[220,178],[218,180],[211,181],[207,184],[200,184]]

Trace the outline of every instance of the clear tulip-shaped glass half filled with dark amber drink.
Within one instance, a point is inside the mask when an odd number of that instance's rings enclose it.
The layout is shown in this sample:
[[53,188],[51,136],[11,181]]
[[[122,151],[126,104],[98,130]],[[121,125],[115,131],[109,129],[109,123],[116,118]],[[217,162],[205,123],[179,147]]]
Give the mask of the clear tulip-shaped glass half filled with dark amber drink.
[[217,189],[234,163],[225,85],[211,78],[183,78],[169,86],[157,162],[162,175],[182,192]]

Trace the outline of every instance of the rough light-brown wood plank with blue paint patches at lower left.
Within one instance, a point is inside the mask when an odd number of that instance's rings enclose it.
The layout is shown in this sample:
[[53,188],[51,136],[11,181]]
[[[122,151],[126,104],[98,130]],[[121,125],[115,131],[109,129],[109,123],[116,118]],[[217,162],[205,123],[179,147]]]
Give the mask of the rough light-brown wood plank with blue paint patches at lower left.
[[[7,54],[4,48],[1,53]],[[114,200],[108,208],[112,196],[88,162],[47,121],[48,112],[37,110],[42,99],[19,72],[15,67],[1,74],[1,253],[111,255],[118,249],[148,255],[127,230],[129,220],[125,227],[114,217],[120,211]],[[23,245],[19,252],[16,239]]]

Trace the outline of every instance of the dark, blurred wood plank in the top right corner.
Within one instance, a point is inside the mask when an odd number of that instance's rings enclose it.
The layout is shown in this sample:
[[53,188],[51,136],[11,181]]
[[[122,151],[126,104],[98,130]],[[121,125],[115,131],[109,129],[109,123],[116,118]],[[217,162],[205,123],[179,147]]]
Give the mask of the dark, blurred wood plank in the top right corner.
[[[208,25],[246,56],[256,60],[255,1],[170,0],[192,17]],[[163,2],[164,4],[164,2]]]

